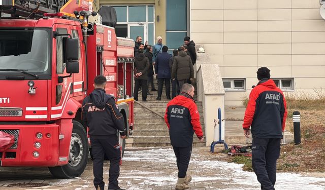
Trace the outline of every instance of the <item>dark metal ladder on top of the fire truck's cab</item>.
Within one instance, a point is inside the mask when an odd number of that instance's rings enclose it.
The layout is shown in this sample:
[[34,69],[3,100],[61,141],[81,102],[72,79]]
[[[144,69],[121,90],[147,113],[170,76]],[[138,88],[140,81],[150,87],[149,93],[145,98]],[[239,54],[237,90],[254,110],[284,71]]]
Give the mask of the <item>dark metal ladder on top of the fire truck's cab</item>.
[[[69,0],[3,0],[0,1],[0,13],[12,17],[41,18],[44,13],[59,13]],[[1,14],[0,14],[1,17]]]

